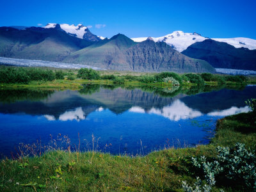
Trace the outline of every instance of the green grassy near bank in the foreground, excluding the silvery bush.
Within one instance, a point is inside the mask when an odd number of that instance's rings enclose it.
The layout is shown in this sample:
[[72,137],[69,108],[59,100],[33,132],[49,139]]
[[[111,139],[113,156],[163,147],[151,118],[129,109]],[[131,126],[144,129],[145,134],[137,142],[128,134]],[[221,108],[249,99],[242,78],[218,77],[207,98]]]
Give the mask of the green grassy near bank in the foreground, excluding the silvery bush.
[[[191,157],[216,156],[216,146],[237,142],[256,148],[256,117],[241,113],[218,121],[209,145],[170,148],[144,157],[97,152],[54,150],[38,157],[4,159],[1,191],[182,191],[181,181],[195,182]],[[246,191],[243,186],[218,184],[213,191]]]

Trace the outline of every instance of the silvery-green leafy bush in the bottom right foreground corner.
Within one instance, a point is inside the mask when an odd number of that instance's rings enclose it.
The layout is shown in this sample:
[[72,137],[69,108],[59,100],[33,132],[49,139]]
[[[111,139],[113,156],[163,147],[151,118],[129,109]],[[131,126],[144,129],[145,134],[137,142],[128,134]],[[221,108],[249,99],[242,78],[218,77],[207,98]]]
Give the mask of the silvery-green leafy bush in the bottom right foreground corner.
[[[241,184],[247,188],[256,189],[256,156],[255,152],[249,152],[244,144],[236,143],[234,147],[217,147],[218,156],[207,161],[205,156],[193,158],[193,166],[204,172],[204,177],[208,185],[207,189],[211,189],[216,182],[233,182]],[[200,179],[197,179],[200,180]],[[186,182],[183,182],[184,191],[191,191]],[[198,189],[204,189],[200,184],[195,184]],[[208,190],[208,191],[209,191]]]

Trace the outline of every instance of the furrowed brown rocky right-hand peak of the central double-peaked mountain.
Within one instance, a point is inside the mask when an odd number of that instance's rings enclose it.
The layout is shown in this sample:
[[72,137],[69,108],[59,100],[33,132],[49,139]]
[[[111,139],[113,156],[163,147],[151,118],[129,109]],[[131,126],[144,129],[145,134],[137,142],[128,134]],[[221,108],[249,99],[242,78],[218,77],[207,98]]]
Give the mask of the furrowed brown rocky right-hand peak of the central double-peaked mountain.
[[134,71],[214,72],[209,63],[180,54],[164,42],[148,38],[125,51]]

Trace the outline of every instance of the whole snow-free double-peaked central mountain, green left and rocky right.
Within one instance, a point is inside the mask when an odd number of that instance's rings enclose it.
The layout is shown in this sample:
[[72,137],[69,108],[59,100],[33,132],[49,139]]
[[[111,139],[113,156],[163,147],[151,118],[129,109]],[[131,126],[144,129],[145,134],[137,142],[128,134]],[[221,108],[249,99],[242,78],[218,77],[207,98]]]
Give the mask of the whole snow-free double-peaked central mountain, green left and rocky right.
[[206,61],[180,54],[164,42],[152,39],[136,43],[118,34],[70,54],[64,62],[83,63],[111,70],[143,72],[214,72]]

